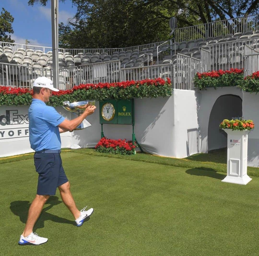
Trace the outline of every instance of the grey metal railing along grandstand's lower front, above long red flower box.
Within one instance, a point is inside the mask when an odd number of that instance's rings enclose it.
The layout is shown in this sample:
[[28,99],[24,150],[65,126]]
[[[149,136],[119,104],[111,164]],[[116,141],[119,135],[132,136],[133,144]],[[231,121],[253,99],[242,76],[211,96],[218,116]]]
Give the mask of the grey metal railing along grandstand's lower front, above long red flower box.
[[[128,80],[169,78],[175,89],[195,90],[193,78],[197,72],[208,70],[209,51],[201,52],[201,60],[177,54],[176,65],[163,63],[132,68],[121,68],[119,60],[83,64],[59,69],[58,89],[68,90],[79,84],[114,83]],[[32,88],[39,76],[53,78],[51,68],[0,63],[0,84],[4,86]]]

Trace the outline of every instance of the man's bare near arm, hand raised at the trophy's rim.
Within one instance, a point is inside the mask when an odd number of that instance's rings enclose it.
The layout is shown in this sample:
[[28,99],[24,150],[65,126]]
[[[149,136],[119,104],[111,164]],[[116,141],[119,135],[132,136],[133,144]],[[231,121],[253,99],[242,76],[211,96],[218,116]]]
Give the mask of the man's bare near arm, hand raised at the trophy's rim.
[[[62,123],[60,123],[58,125],[59,129],[61,128],[64,131],[73,131],[74,129],[76,129],[76,127],[78,125],[80,125],[80,123],[83,122],[83,120],[88,116],[91,115],[96,109],[96,106],[87,106],[85,108],[85,111],[83,112],[82,115],[78,116],[75,119],[72,120],[67,120],[65,119]],[[64,132],[63,131],[63,132]]]

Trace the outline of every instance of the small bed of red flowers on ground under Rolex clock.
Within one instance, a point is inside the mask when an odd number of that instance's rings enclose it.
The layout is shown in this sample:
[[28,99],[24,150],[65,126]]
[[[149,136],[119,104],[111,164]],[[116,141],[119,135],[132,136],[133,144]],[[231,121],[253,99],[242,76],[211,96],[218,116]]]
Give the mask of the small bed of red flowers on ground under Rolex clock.
[[95,148],[100,153],[133,155],[136,147],[132,144],[132,141],[126,141],[126,139],[111,140],[103,137]]

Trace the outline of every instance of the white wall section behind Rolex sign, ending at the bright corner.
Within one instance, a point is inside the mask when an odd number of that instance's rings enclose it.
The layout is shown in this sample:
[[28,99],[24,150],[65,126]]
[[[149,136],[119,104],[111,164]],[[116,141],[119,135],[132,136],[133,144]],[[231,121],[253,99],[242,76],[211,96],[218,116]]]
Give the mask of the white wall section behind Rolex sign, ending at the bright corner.
[[[156,155],[171,156],[173,154],[173,97],[135,99],[135,136],[148,152]],[[72,144],[92,148],[101,137],[99,119],[99,102],[96,111],[87,117],[92,124],[84,130],[74,131]],[[111,139],[132,140],[132,125],[103,125],[104,136]]]

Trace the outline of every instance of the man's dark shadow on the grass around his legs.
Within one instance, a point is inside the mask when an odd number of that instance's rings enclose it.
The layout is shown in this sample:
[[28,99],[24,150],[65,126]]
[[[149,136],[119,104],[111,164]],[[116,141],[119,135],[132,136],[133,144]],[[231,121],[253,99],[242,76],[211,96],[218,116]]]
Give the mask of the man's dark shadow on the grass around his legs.
[[[51,196],[48,199],[48,201],[46,202],[46,205],[48,204],[49,205],[42,210],[40,217],[34,226],[34,230],[43,228],[44,221],[48,221],[48,220],[58,222],[58,223],[75,225],[75,221],[67,220],[65,218],[62,218],[47,212],[47,210],[51,209],[53,206],[58,205],[60,203],[62,203],[62,201],[59,201],[57,196]],[[13,201],[10,204],[10,209],[13,214],[20,217],[21,222],[26,223],[30,206],[31,206],[31,203],[29,201]],[[90,218],[87,218],[85,221],[88,221],[89,219]]]

